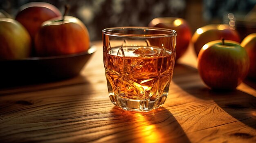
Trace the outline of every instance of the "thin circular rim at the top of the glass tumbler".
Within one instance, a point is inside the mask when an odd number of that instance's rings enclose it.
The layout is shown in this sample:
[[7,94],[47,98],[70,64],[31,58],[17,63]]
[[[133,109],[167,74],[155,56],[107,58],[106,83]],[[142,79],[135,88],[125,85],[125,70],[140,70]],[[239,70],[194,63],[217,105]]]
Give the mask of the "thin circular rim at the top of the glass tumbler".
[[[111,32],[114,30],[121,30],[121,29],[137,29],[137,30],[151,30],[151,31],[164,31],[168,33],[163,34],[128,34],[128,33],[117,33],[117,32]],[[124,27],[111,27],[106,28],[102,30],[103,34],[109,35],[109,36],[115,36],[115,37],[171,37],[176,36],[177,32],[173,29],[164,29],[164,28],[158,28],[158,27],[138,27],[138,26],[124,26]]]

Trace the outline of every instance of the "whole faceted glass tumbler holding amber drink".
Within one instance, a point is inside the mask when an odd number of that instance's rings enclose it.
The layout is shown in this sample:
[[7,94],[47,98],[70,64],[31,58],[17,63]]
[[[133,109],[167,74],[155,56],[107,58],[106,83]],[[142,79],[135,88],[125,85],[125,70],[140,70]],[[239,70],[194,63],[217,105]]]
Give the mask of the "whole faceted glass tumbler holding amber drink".
[[124,110],[150,111],[168,95],[176,53],[176,31],[114,27],[103,31],[108,94]]

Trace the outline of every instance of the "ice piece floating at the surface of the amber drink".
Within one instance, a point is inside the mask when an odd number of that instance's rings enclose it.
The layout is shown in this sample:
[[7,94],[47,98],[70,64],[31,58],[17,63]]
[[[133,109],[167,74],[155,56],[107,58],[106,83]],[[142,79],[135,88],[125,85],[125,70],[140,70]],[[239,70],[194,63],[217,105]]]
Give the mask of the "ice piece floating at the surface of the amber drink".
[[139,47],[133,53],[143,56],[143,57],[148,57],[148,56],[157,56],[158,52],[156,49],[153,47]]

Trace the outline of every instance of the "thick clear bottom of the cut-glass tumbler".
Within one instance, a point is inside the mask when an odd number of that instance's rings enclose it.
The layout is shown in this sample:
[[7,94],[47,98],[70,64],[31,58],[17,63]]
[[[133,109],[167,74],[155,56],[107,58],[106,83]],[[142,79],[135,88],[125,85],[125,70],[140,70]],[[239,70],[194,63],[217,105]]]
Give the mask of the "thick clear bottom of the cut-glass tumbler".
[[161,107],[167,98],[167,94],[168,93],[163,93],[159,98],[155,100],[132,100],[121,98],[112,94],[110,94],[109,97],[114,105],[120,107],[123,110],[148,112]]

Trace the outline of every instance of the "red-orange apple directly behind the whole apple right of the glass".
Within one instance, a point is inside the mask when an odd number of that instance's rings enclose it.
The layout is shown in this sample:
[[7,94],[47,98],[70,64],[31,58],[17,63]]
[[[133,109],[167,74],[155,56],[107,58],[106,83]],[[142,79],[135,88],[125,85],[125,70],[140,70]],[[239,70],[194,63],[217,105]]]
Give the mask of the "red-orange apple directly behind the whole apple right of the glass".
[[230,29],[227,24],[209,24],[197,29],[191,39],[196,55],[198,55],[204,44],[214,40],[220,40],[222,37],[225,40],[240,42],[238,32]]

